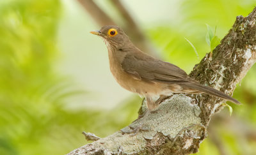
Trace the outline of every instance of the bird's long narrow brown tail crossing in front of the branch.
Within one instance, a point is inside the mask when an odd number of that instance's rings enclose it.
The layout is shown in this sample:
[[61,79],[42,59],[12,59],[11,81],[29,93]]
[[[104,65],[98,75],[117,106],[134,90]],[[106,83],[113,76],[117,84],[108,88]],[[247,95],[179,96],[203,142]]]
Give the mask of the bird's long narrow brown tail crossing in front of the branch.
[[199,83],[189,83],[186,84],[186,87],[189,87],[190,89],[195,89],[196,91],[202,91],[206,94],[211,94],[212,96],[216,96],[218,98],[223,98],[228,101],[232,101],[233,103],[236,103],[237,105],[240,105],[241,103],[237,101],[236,99],[228,96],[224,92],[218,91],[217,89],[214,89],[212,87],[208,87]]

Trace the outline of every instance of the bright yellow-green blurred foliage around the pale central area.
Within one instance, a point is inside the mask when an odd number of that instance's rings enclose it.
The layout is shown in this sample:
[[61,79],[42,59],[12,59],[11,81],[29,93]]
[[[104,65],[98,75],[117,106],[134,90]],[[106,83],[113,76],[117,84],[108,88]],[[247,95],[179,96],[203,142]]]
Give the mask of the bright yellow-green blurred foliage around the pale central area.
[[[210,52],[205,23],[217,26],[217,36],[223,38],[235,17],[248,15],[255,4],[251,0],[183,0],[179,19],[152,24],[143,31],[166,61],[189,72],[198,59],[184,37],[202,59]],[[137,117],[141,99],[136,96],[111,110],[68,108],[68,98],[86,95],[86,91],[79,89],[72,75],[56,68],[61,59],[56,35],[63,11],[58,0],[0,2],[0,154],[65,154],[86,144],[81,131],[105,137]],[[256,126],[255,78],[254,66],[234,92],[243,106],[232,105],[233,115],[250,128]],[[255,140],[221,126],[218,135],[228,154],[256,154]],[[220,151],[207,139],[198,154]]]

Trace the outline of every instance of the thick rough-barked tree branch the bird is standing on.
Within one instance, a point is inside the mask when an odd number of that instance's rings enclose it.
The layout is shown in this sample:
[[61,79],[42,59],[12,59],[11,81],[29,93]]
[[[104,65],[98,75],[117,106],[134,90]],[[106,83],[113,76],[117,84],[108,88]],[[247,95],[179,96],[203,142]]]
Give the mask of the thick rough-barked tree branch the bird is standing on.
[[[256,61],[255,21],[256,8],[248,17],[238,16],[227,36],[214,49],[212,61],[206,54],[189,76],[201,84],[232,94],[236,84]],[[117,131],[68,154],[195,153],[198,152],[200,142],[207,137],[206,129],[212,115],[224,106],[223,100],[207,94],[174,94],[159,105],[156,113],[147,117],[145,126],[148,131],[140,131],[133,137]],[[138,119],[130,126],[140,123]],[[122,130],[130,129],[127,126]]]

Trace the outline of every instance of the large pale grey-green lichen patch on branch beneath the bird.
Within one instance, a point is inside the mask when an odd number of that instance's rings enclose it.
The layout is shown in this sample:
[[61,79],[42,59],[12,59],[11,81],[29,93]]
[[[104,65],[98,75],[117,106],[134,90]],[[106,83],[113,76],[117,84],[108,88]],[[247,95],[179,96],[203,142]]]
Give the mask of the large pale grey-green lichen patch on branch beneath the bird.
[[[200,108],[191,104],[191,98],[184,94],[175,94],[172,98],[165,100],[159,105],[156,113],[148,115],[143,126],[149,131],[140,133],[146,139],[152,139],[156,133],[163,133],[164,136],[174,138],[182,128],[191,124],[200,124],[198,115]],[[133,128],[139,126],[141,120],[131,124]],[[129,131],[129,127],[122,129]],[[152,130],[154,129],[154,130]],[[138,134],[138,135],[140,135]]]

